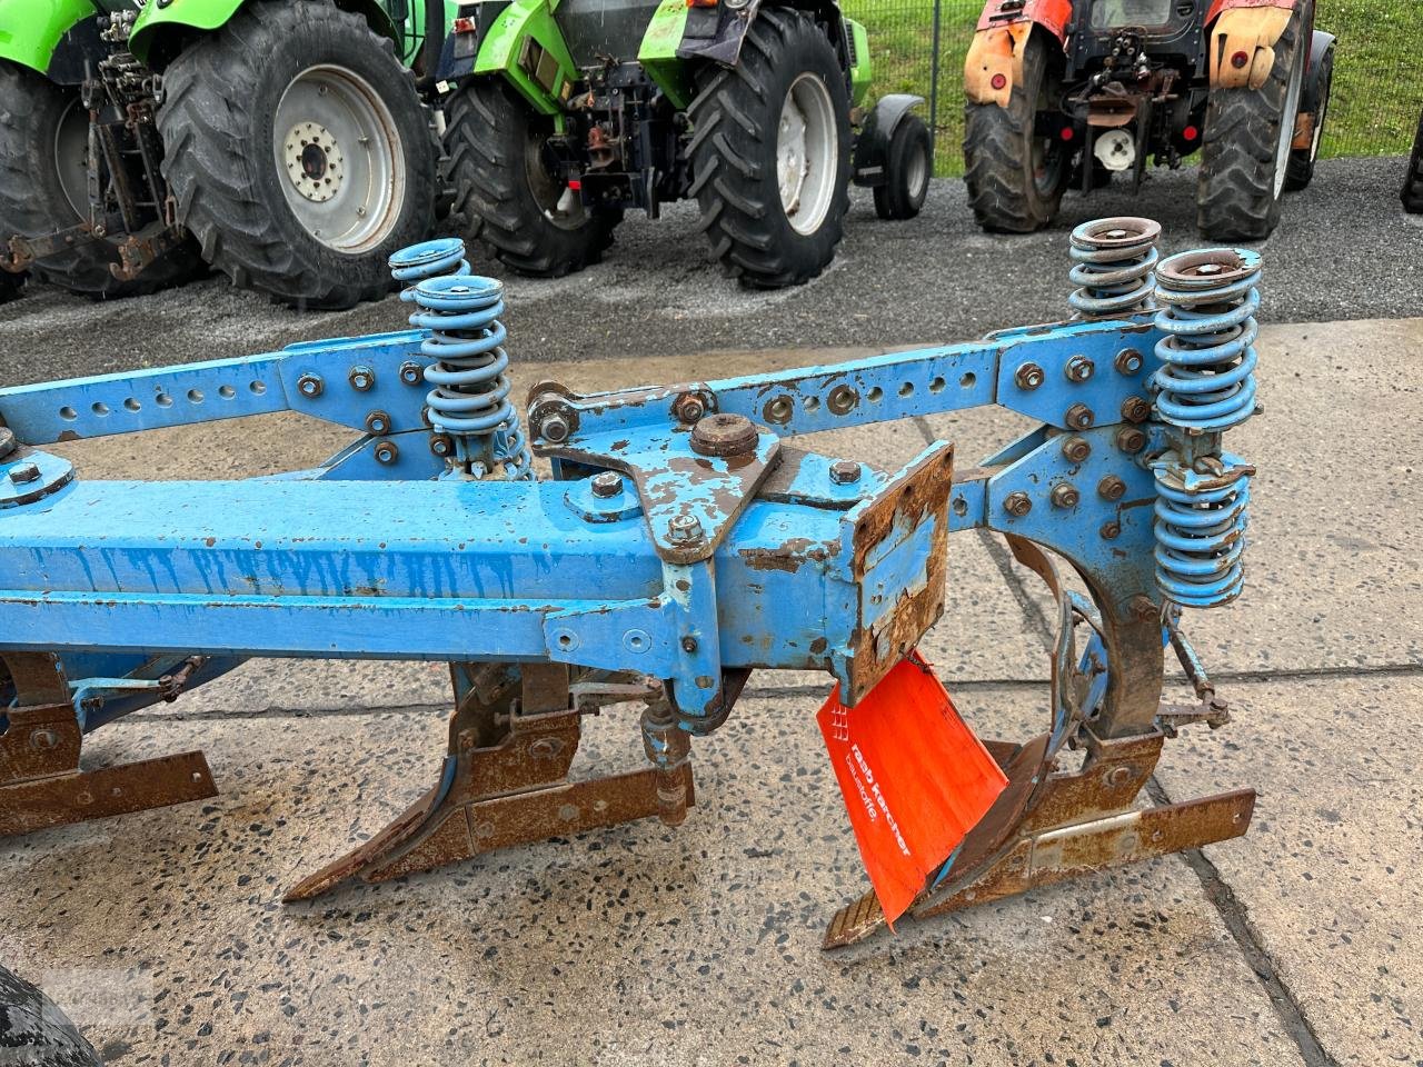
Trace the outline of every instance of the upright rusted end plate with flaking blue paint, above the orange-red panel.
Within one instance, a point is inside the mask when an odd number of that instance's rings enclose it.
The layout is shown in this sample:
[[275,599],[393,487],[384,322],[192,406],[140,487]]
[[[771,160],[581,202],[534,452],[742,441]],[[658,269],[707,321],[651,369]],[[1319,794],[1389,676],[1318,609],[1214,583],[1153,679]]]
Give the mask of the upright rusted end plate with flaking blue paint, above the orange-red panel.
[[906,531],[924,522],[932,522],[933,528],[919,575],[922,580],[898,590],[895,603],[882,610],[865,603],[864,598],[875,595],[869,586],[862,590],[847,704],[858,703],[874,689],[943,613],[952,482],[953,450],[945,447],[908,468],[855,524],[851,579],[857,583],[864,583],[874,569],[874,555],[881,545],[904,539]]

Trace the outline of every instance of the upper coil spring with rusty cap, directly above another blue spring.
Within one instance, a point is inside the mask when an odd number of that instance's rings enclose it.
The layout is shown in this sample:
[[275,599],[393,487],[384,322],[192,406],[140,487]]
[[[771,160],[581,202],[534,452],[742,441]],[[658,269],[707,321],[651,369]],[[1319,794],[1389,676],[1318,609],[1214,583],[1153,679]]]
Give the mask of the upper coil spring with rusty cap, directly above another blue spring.
[[1157,410],[1173,425],[1215,432],[1255,411],[1259,255],[1202,249],[1157,267]]

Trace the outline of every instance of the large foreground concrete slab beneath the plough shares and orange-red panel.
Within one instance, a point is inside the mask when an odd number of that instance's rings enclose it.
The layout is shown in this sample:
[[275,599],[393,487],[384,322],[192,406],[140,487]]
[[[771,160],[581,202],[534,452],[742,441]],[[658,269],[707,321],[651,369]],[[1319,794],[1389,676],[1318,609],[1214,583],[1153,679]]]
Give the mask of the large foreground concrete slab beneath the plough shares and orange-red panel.
[[[978,691],[985,734],[1036,694]],[[696,745],[699,805],[283,906],[431,780],[435,716],[129,723],[112,761],[203,745],[205,805],[0,846],[0,959],[139,1063],[1301,1063],[1175,858],[825,955],[865,885],[813,720],[753,699]],[[591,724],[636,765],[630,716]],[[595,765],[579,757],[578,773]]]

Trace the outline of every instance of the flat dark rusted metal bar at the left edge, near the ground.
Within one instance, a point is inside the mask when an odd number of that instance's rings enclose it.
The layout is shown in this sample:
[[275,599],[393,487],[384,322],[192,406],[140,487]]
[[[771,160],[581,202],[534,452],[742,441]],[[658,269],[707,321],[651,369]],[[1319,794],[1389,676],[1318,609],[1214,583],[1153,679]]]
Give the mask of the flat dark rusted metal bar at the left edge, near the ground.
[[202,753],[0,787],[0,837],[216,797]]

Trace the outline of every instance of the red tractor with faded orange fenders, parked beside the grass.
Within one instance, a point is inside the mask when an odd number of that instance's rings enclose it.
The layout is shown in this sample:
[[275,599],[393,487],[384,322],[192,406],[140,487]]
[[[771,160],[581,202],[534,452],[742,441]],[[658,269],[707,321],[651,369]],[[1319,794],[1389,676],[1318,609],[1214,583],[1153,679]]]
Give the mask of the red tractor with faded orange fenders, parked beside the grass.
[[1258,240],[1313,176],[1333,37],[1315,0],[988,0],[963,67],[965,179],[988,230],[1201,151],[1197,225]]

